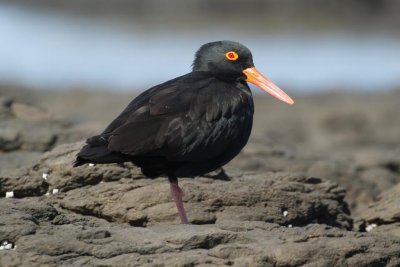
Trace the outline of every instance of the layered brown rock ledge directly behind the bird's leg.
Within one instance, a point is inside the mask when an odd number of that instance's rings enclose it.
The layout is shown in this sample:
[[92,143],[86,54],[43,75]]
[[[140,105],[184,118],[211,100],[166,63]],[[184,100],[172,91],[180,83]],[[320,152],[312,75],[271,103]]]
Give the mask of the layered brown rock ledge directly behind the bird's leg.
[[[352,228],[344,192],[330,182],[307,184],[285,174],[244,175],[231,181],[180,179],[192,223],[255,220],[281,225],[312,222]],[[178,222],[165,178],[121,179],[68,191],[59,201],[65,208],[135,226]],[[283,212],[287,211],[287,216]]]

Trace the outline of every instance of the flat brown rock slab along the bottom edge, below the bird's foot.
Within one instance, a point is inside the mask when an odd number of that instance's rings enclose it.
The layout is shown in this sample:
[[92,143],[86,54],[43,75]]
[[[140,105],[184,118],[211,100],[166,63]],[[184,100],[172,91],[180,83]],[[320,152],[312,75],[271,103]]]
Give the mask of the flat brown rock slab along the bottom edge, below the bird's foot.
[[[0,200],[4,207],[4,201]],[[16,202],[24,200],[13,200]],[[26,203],[24,203],[26,204]],[[21,207],[21,205],[18,205]],[[0,251],[2,266],[398,266],[400,239],[311,224],[288,228],[260,221],[215,225],[130,227],[90,216],[54,224],[66,211],[46,204],[9,205],[0,222],[19,225],[4,235],[15,249]],[[43,216],[45,215],[45,216]],[[51,215],[51,216],[48,216]],[[19,217],[18,217],[19,216]],[[78,215],[79,216],[79,215]],[[23,218],[27,218],[24,219]],[[6,219],[6,220],[5,220]],[[12,221],[11,219],[15,220]],[[36,221],[36,223],[32,223]],[[27,231],[29,230],[30,231]],[[4,237],[3,237],[4,236]]]

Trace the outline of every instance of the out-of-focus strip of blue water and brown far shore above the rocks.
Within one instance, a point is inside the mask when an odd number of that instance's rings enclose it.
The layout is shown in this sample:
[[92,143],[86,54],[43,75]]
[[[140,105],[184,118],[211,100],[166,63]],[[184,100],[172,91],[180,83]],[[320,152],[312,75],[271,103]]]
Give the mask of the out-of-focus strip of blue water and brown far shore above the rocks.
[[400,84],[396,0],[9,0],[0,2],[0,82],[51,90],[143,90],[231,39],[289,92]]

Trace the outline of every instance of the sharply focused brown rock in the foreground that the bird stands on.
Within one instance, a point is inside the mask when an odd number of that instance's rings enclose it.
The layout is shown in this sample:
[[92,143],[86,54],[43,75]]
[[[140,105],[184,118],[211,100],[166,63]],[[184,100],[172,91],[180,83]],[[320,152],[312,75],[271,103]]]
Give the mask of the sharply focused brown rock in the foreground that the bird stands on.
[[179,225],[165,178],[133,166],[72,168],[81,145],[58,146],[1,178],[2,192],[16,197],[0,199],[0,239],[13,246],[0,251],[1,265],[400,264],[399,237],[348,231],[344,190],[333,182],[231,168],[229,180],[182,178],[192,225]]

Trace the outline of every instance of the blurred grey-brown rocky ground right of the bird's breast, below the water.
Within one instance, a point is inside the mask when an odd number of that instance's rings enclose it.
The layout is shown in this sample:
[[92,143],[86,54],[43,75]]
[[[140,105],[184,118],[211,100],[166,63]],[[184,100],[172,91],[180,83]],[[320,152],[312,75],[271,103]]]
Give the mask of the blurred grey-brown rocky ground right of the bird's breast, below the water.
[[256,98],[251,140],[231,164],[332,180],[358,216],[400,182],[399,99],[400,90],[298,97],[293,107]]

